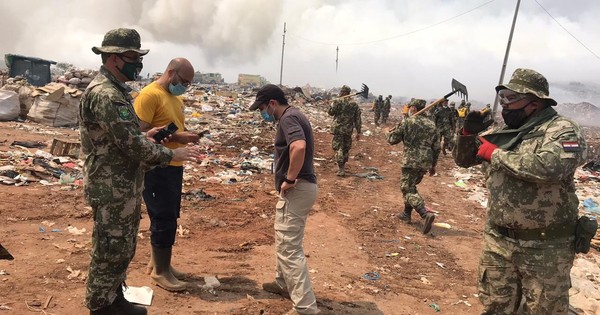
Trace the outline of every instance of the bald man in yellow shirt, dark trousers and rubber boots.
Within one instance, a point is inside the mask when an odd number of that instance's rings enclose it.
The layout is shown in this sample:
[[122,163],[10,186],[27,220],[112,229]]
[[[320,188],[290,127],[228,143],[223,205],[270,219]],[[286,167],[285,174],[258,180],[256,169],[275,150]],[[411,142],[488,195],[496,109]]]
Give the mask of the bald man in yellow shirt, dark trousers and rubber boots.
[[[183,99],[194,78],[194,67],[185,58],[171,60],[163,75],[142,89],[136,97],[134,108],[140,118],[142,131],[174,123],[177,131],[165,145],[171,149],[197,142],[197,133],[185,131]],[[179,279],[185,274],[171,266],[171,255],[177,219],[181,208],[183,163],[171,162],[167,167],[157,167],[144,178],[144,202],[150,217],[150,243],[152,256],[148,273],[152,283],[168,291],[183,291],[186,283]]]

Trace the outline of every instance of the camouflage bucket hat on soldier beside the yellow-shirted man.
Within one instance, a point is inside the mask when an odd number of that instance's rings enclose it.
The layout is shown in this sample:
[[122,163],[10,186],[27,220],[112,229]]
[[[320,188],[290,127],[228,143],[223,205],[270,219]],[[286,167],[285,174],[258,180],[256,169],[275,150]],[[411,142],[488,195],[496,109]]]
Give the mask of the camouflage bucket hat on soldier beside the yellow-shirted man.
[[141,46],[140,34],[130,28],[117,28],[110,30],[104,35],[102,46],[92,47],[92,51],[99,55],[105,54],[121,54],[126,51],[135,51],[140,55],[148,53],[148,49],[140,49]]

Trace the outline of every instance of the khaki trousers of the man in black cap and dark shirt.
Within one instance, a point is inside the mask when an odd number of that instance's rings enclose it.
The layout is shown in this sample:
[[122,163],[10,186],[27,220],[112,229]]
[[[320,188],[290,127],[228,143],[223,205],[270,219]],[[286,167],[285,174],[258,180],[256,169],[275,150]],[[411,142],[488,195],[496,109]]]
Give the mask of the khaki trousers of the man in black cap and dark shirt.
[[300,314],[317,314],[317,300],[310,284],[304,256],[304,227],[317,199],[317,184],[299,180],[277,202],[275,213],[275,281],[286,288]]

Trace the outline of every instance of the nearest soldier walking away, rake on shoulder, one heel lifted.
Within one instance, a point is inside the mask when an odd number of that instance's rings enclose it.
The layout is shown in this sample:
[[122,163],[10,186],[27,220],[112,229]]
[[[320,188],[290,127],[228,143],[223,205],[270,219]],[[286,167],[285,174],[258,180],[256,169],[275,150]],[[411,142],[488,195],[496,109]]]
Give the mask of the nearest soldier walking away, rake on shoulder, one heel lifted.
[[431,119],[416,112],[425,107],[425,100],[413,99],[409,103],[409,117],[386,135],[389,144],[404,144],[402,157],[402,178],[400,185],[404,197],[404,211],[400,219],[411,222],[412,210],[423,218],[423,234],[429,233],[435,215],[425,209],[425,201],[417,191],[417,185],[427,171],[435,174],[435,166],[440,155],[440,140],[435,124]]

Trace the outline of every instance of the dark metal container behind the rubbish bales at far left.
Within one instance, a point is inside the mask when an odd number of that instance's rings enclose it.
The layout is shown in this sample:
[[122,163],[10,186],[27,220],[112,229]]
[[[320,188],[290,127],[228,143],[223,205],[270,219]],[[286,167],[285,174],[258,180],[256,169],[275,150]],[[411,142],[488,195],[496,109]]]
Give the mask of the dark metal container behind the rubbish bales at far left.
[[44,86],[52,82],[50,65],[56,64],[56,61],[12,54],[4,55],[4,62],[11,78],[22,76],[33,86]]

